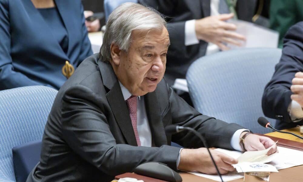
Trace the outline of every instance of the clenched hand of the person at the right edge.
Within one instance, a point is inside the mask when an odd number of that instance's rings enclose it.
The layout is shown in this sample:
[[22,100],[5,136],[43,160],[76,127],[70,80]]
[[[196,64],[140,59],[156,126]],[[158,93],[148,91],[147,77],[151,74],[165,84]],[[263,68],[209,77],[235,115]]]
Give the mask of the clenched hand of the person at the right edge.
[[295,78],[292,79],[292,85],[290,87],[292,94],[290,98],[295,100],[303,107],[303,72],[297,72]]

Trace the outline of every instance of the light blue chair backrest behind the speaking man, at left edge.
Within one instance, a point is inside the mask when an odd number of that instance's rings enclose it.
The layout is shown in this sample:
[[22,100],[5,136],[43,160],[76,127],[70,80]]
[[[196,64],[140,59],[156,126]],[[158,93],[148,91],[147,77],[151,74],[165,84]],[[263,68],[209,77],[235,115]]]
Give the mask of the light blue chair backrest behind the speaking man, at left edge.
[[0,91],[0,180],[15,181],[12,148],[42,140],[57,90],[26,86]]

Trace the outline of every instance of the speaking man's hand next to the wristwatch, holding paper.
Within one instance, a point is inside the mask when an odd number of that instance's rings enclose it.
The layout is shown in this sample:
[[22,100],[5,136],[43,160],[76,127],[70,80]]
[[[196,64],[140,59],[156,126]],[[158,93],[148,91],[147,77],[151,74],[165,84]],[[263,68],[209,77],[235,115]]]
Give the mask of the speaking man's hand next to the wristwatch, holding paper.
[[[240,138],[245,133],[246,132],[241,133]],[[271,147],[272,145],[273,147],[267,152],[267,155],[278,152],[277,145],[273,140],[265,136],[259,136],[254,134],[247,135],[244,139],[244,147],[247,151],[265,150]]]

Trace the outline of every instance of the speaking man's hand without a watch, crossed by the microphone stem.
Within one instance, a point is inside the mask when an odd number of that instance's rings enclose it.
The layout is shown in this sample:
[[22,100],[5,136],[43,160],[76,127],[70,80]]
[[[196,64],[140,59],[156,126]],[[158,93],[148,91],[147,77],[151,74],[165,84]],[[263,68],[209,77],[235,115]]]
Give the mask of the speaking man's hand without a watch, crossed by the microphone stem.
[[[235,170],[231,164],[238,163],[238,160],[216,150],[210,150],[210,152],[221,174]],[[178,169],[185,171],[196,170],[205,174],[217,174],[206,148],[182,149]]]

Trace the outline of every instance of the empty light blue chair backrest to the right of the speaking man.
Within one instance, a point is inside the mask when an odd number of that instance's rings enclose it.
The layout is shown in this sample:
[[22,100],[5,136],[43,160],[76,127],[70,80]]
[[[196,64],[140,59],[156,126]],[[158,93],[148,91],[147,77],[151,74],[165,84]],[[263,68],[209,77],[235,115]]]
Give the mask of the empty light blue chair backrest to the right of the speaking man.
[[[197,59],[186,79],[195,108],[202,114],[238,123],[255,133],[271,130],[259,126],[261,99],[271,79],[281,49],[249,48],[219,52]],[[267,118],[275,126],[275,120]]]

